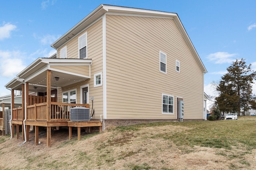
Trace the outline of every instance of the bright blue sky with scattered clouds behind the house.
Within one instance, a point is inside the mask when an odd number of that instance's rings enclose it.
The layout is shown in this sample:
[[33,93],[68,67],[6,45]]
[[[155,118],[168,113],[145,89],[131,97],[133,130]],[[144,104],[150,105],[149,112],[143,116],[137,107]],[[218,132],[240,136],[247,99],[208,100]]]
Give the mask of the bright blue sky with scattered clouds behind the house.
[[255,0],[1,0],[0,96],[10,94],[5,84],[38,57],[52,55],[50,45],[100,4],[177,13],[208,70],[210,96],[211,82],[235,59],[256,69]]

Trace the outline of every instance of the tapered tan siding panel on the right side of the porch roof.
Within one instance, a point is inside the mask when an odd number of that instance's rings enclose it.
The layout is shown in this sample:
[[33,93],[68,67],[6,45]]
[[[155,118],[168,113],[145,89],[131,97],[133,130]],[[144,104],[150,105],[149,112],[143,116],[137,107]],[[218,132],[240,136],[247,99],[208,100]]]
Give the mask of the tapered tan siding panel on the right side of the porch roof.
[[89,76],[90,75],[90,67],[89,66],[51,66],[51,68],[55,68],[58,70],[63,70],[63,71],[68,71],[68,72],[73,72],[74,74],[82,74]]

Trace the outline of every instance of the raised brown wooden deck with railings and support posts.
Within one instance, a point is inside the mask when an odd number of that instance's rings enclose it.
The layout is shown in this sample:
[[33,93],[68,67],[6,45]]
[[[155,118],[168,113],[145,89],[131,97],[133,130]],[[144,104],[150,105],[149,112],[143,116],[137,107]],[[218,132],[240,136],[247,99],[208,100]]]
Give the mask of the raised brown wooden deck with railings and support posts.
[[[87,107],[89,104],[66,104],[58,102],[50,102],[48,107],[47,102],[34,103],[27,106],[26,111],[26,139],[29,141],[30,126],[35,129],[35,143],[38,145],[38,131],[39,127],[47,128],[47,146],[50,147],[51,129],[52,127],[78,127],[78,139],[80,140],[80,127],[99,127],[101,131],[102,123],[100,121],[70,121],[70,109],[73,107]],[[50,114],[49,114],[50,113]],[[25,119],[24,110],[22,107],[12,109],[12,134],[14,135],[14,128],[16,132],[20,131],[20,125],[23,125]],[[71,134],[71,132],[69,132]],[[17,139],[19,133],[16,133]],[[22,127],[22,140],[24,140],[24,128]],[[70,136],[71,137],[71,136]]]

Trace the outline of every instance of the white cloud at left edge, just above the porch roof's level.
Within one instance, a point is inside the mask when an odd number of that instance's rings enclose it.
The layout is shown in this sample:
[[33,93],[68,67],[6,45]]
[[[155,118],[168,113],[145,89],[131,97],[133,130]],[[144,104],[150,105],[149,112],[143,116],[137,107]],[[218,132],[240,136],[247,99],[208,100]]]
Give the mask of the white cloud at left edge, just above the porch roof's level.
[[4,77],[14,77],[26,66],[24,64],[24,54],[20,51],[0,50],[0,74]]

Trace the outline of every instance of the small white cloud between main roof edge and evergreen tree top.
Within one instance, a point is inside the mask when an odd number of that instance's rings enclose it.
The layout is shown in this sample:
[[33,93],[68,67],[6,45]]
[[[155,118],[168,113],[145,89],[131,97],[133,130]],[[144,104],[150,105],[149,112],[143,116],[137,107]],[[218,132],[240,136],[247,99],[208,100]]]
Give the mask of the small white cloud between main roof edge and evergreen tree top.
[[236,61],[233,57],[238,54],[229,54],[227,52],[217,52],[207,56],[207,58],[215,64],[232,63]]

